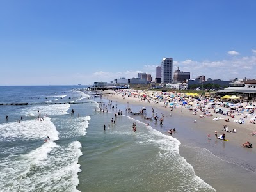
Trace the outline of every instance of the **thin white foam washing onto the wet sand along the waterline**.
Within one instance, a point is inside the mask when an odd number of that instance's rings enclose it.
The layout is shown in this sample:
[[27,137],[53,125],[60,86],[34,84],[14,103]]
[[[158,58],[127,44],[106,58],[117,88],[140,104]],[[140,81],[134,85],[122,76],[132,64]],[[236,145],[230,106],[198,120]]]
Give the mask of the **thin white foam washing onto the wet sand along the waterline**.
[[[179,172],[179,176],[173,175],[172,179],[175,179],[175,177],[184,178],[184,183],[179,186],[179,189],[177,188],[177,191],[191,191],[191,189],[195,189],[195,191],[202,191],[205,189],[215,191],[212,186],[205,183],[204,180],[198,177],[195,174],[193,166],[191,166],[191,164],[189,164],[186,159],[184,159],[184,157],[180,156],[179,145],[181,143],[179,140],[169,136],[168,134],[163,134],[150,126],[145,126],[145,123],[142,123],[134,118],[129,118],[132,119],[132,121],[136,121],[136,124],[138,124],[138,132],[136,133],[136,138],[143,138],[143,140],[138,140],[137,144],[149,144],[159,148],[159,152],[156,156],[153,166],[159,166],[159,164],[163,164],[164,162],[168,163],[172,160],[175,161],[175,163],[172,163],[172,166],[168,167],[167,169],[170,169],[170,172],[173,172],[173,170],[175,170],[174,172]],[[141,127],[140,123],[143,124],[143,127]],[[148,132],[143,131],[144,126]],[[140,134],[140,129],[142,129],[142,134]]]

